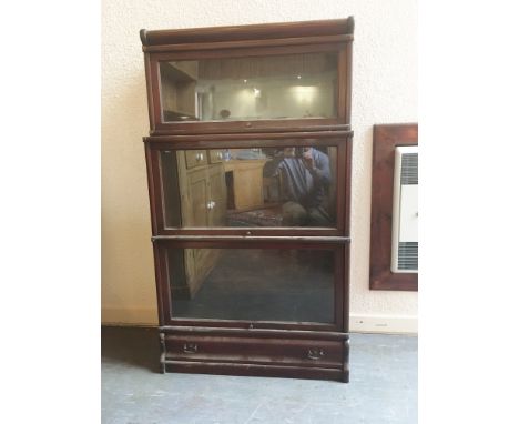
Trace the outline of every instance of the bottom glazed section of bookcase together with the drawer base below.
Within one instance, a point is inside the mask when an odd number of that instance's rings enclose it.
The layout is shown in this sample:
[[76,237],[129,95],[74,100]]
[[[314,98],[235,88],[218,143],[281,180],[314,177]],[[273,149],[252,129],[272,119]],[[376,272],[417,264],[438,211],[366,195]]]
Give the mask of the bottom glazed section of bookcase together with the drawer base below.
[[[348,381],[347,246],[156,243],[164,372]],[[205,263],[196,290],[186,252]]]

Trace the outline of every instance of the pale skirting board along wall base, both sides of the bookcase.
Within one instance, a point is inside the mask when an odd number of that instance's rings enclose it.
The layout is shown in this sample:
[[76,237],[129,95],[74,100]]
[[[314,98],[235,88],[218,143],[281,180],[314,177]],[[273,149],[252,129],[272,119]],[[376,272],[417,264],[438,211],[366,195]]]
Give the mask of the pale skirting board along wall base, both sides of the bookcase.
[[[159,320],[156,310],[154,309],[103,307],[101,323],[104,325],[156,326]],[[418,317],[352,314],[349,317],[349,331],[352,333],[417,334]]]

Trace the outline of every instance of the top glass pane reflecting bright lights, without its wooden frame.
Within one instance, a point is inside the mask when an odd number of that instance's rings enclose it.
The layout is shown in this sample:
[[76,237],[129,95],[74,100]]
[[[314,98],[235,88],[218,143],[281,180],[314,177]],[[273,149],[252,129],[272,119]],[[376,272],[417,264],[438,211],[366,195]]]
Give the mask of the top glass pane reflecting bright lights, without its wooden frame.
[[164,121],[335,118],[337,53],[160,62]]

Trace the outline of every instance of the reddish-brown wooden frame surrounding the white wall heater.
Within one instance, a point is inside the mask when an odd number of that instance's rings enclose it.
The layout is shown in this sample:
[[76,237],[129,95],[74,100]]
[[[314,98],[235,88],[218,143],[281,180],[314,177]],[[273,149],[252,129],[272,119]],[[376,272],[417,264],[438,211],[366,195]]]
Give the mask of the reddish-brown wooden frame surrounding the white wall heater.
[[418,273],[394,273],[390,270],[397,145],[418,145],[417,123],[374,125],[369,290],[418,291]]

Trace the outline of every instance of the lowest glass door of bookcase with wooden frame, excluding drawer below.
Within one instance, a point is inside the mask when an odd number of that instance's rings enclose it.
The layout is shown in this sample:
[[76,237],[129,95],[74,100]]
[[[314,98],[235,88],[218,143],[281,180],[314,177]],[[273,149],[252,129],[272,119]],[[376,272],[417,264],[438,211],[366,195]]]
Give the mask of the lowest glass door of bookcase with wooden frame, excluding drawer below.
[[[340,331],[343,243],[155,241],[164,325],[177,320]],[[193,252],[193,253],[192,253]],[[196,262],[195,284],[186,256]]]

